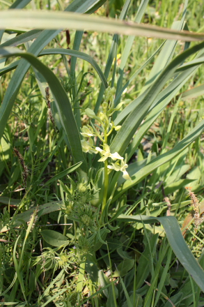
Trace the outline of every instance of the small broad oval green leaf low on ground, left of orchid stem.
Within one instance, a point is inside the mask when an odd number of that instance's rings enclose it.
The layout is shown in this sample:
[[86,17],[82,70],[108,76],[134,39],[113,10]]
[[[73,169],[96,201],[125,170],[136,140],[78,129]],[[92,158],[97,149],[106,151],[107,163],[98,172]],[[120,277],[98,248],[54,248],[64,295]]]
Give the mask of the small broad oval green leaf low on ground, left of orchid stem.
[[69,243],[68,237],[54,230],[42,230],[40,234],[42,234],[43,239],[52,246],[62,246],[63,244]]

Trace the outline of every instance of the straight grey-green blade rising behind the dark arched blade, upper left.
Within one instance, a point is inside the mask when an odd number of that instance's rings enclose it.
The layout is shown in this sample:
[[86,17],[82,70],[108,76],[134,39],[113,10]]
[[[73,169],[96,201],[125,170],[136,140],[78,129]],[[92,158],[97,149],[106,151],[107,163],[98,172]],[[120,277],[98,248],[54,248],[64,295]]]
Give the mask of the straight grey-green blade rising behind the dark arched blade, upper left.
[[[94,4],[99,3],[97,0],[75,0],[65,10],[70,10],[78,13],[84,13],[91,8]],[[15,11],[16,12],[16,11]],[[28,52],[38,56],[42,49],[60,32],[61,30],[45,30],[40,33],[40,36],[36,38]],[[22,59],[13,74],[12,79],[8,85],[3,102],[0,108],[0,140],[3,135],[4,128],[8,121],[8,117],[13,107],[13,103],[19,91],[19,87],[24,80],[24,75],[30,67],[30,63]]]

